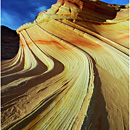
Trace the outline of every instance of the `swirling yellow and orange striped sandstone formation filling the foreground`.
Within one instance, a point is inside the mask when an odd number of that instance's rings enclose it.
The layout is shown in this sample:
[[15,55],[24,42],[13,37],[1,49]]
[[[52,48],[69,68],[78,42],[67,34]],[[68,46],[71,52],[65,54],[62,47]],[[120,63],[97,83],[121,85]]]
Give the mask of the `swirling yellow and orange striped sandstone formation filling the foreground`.
[[2,61],[2,129],[128,130],[128,12],[58,0],[19,27],[18,54]]

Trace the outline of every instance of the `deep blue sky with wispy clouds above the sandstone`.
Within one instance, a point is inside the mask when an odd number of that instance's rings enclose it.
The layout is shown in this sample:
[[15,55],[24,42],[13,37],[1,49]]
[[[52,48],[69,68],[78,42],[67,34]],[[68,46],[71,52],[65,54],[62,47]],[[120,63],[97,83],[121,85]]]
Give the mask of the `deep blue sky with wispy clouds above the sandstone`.
[[[126,5],[129,0],[101,0],[111,4]],[[57,0],[1,0],[1,25],[16,30],[34,21],[39,12],[47,10]]]

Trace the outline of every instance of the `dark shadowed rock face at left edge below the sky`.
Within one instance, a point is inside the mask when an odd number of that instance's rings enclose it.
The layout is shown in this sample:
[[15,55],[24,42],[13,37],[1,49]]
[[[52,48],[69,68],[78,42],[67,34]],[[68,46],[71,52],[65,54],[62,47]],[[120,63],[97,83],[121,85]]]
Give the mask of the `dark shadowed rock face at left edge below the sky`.
[[1,26],[1,60],[16,56],[19,49],[19,36],[16,31]]

